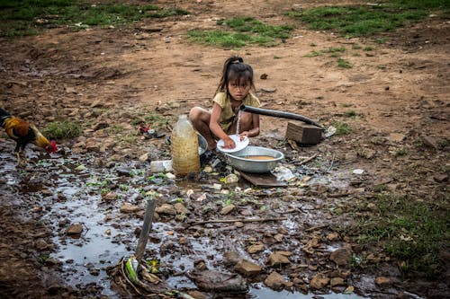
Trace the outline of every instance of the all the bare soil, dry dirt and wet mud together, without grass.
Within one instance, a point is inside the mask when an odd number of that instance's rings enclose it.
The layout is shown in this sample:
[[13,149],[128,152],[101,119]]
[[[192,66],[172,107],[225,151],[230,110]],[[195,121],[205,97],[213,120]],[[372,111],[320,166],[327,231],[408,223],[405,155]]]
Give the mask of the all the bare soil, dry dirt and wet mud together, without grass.
[[[381,184],[411,200],[446,200],[448,145],[443,145],[450,137],[450,23],[430,17],[383,34],[389,39],[385,44],[307,31],[295,23],[293,38],[277,47],[230,50],[192,44],[185,32],[213,29],[216,20],[235,14],[251,14],[270,23],[294,22],[283,12],[302,3],[160,4],[192,14],[147,20],[126,29],[51,29],[37,37],[0,43],[0,106],[39,128],[64,119],[81,121],[85,128],[75,140],[58,140],[60,150],[52,156],[30,146],[31,163],[26,168],[15,166],[13,142],[1,139],[2,296],[128,296],[110,285],[106,268],[135,251],[135,230],[141,225],[144,205],[141,189],[162,194],[158,206],[175,206],[178,198],[184,198],[184,218],[180,213],[178,217],[158,213],[156,235],[146,252],[148,259],[161,259],[165,278],[178,279],[173,287],[195,288],[184,272],[199,260],[207,268],[232,271],[224,256],[233,251],[263,267],[261,274],[248,279],[260,284],[256,289],[278,271],[289,280],[282,287],[285,290],[327,293],[329,286],[316,290],[311,279],[338,270],[334,275],[345,283],[335,286],[335,292],[355,286],[356,294],[374,298],[395,298],[402,292],[448,296],[448,273],[433,282],[419,275],[402,277],[396,261],[380,249],[362,251],[332,227],[352,225],[354,215],[346,210],[346,202],[369,202],[373,189]],[[327,55],[305,57],[330,47],[345,47],[342,57],[353,67],[339,68],[337,58]],[[374,49],[365,51],[365,47]],[[251,144],[284,152],[283,165],[292,166],[298,180],[283,189],[255,189],[241,180],[238,185],[223,184],[222,189],[231,194],[227,195],[211,188],[231,172],[225,168],[216,176],[202,172],[199,181],[148,180],[149,162],[168,159],[170,147],[166,137],[142,138],[133,121],[162,116],[167,124],[158,123],[158,129],[169,136],[179,114],[194,105],[208,105],[222,63],[231,54],[254,66],[264,108],[299,113],[325,127],[346,122],[353,132],[299,147],[284,140],[287,119],[262,117],[262,134]],[[263,74],[265,80],[260,79]],[[349,110],[356,111],[356,117],[347,117]],[[404,150],[408,154],[396,154]],[[314,154],[317,158],[301,164]],[[364,173],[356,175],[355,169]],[[102,188],[113,196],[102,196]],[[229,202],[236,208],[229,215],[220,214]],[[125,213],[127,203],[139,211]],[[250,216],[288,220],[243,227],[192,225],[193,220]],[[66,234],[74,223],[84,224],[80,239]],[[255,244],[262,244],[264,251],[248,253]],[[355,257],[374,253],[377,267],[338,268],[329,253],[339,248],[350,248]],[[290,264],[267,263],[275,251],[290,251]],[[442,258],[449,260],[447,247]],[[389,277],[390,283],[375,285],[376,277]]]

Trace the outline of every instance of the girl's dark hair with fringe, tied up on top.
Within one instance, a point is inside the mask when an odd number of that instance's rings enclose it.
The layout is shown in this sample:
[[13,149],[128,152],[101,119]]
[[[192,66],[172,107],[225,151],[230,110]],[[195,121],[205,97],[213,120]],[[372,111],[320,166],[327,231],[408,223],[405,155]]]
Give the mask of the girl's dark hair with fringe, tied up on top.
[[253,68],[244,63],[244,59],[242,59],[242,57],[229,57],[223,64],[222,77],[220,78],[220,83],[217,87],[216,93],[228,93],[229,80],[240,80],[241,78],[250,81],[250,87],[255,90],[255,84],[253,81]]

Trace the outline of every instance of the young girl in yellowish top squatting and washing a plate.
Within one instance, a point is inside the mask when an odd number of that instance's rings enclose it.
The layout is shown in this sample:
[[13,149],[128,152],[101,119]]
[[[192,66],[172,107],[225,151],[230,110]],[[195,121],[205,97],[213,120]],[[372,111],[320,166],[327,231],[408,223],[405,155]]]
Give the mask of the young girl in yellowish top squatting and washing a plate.
[[[255,90],[252,67],[245,64],[242,57],[229,57],[223,65],[211,111],[194,107],[189,113],[193,128],[206,138],[209,150],[216,148],[217,139],[223,140],[224,148],[236,147],[229,135],[236,134],[240,106],[260,105],[250,90]],[[259,115],[244,111],[241,113],[239,136],[259,135]]]

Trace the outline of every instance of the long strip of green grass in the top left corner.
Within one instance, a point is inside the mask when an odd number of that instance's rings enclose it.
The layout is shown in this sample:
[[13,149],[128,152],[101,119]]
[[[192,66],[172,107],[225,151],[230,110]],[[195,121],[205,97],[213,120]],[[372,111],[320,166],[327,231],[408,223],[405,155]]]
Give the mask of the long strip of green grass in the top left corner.
[[69,25],[74,30],[89,26],[116,26],[143,18],[162,18],[188,14],[180,9],[157,5],[133,5],[114,2],[90,4],[85,0],[0,0],[0,36],[38,34],[45,28]]

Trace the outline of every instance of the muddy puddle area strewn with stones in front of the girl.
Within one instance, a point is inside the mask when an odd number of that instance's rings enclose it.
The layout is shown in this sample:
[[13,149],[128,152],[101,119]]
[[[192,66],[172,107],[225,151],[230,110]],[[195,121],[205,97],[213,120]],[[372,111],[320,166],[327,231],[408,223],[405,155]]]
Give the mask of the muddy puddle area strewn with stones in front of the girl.
[[[246,182],[221,184],[222,174],[202,174],[200,180],[174,180],[148,172],[148,163],[111,163],[94,155],[29,154],[31,163],[16,168],[14,156],[2,154],[4,184],[27,194],[29,208],[41,215],[41,221],[53,232],[55,250],[49,258],[60,262],[60,277],[76,288],[96,284],[102,294],[120,298],[112,287],[107,269],[136,250],[143,211],[147,198],[157,199],[157,207],[175,203],[179,210],[158,210],[154,219],[144,260],[157,260],[157,273],[173,289],[195,289],[186,273],[202,262],[205,268],[230,272],[225,255],[234,252],[268,269],[267,258],[274,251],[290,251],[291,264],[275,266],[296,268],[305,283],[311,273],[302,273],[311,265],[302,247],[310,240],[304,225],[326,224],[327,215],[318,207],[322,199],[311,198],[304,189],[257,189]],[[100,166],[97,166],[100,165]],[[317,172],[317,171],[316,171]],[[311,174],[311,173],[310,173]],[[306,175],[306,174],[304,174]],[[333,181],[332,178],[341,178]],[[311,184],[346,187],[343,175],[317,175]],[[347,180],[347,179],[346,179]],[[223,207],[238,207],[225,215]],[[285,217],[280,221],[196,224],[208,219]],[[78,224],[80,233],[67,233]],[[340,248],[341,241],[319,245],[316,250],[326,254]],[[261,251],[248,252],[251,245],[262,245]],[[300,266],[299,266],[300,265]],[[286,272],[287,273],[287,272]],[[287,278],[288,275],[286,274]],[[249,291],[241,298],[318,298],[317,295],[287,290],[274,291],[261,280],[250,279]],[[346,286],[342,286],[344,291]],[[320,298],[365,298],[362,295],[328,293]]]

